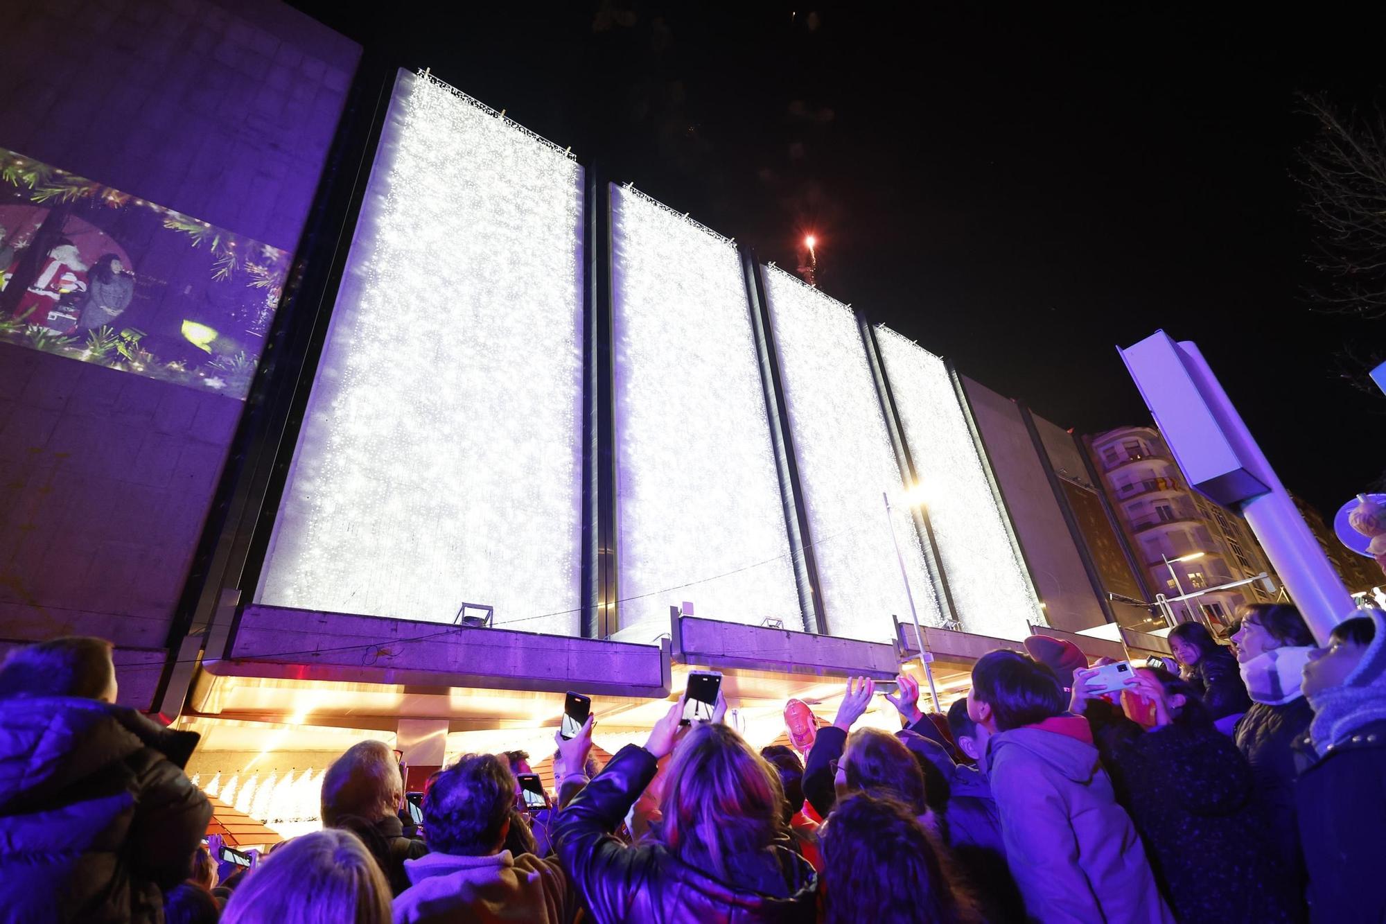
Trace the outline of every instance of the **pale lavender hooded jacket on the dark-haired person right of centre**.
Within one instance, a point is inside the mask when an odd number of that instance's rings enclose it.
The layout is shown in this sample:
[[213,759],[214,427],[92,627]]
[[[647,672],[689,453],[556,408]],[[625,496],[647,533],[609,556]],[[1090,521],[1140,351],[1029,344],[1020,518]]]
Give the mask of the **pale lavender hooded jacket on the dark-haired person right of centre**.
[[1038,921],[1173,921],[1085,719],[994,735],[987,778],[1006,859]]

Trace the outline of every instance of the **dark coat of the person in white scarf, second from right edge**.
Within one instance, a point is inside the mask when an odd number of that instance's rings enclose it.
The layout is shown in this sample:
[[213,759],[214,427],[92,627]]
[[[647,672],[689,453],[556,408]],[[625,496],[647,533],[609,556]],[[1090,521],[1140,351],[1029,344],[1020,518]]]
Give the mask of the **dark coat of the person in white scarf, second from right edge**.
[[1253,702],[1236,723],[1236,748],[1252,764],[1252,794],[1265,817],[1271,846],[1285,875],[1304,889],[1299,823],[1295,819],[1295,746],[1314,719],[1304,696],[1279,706]]

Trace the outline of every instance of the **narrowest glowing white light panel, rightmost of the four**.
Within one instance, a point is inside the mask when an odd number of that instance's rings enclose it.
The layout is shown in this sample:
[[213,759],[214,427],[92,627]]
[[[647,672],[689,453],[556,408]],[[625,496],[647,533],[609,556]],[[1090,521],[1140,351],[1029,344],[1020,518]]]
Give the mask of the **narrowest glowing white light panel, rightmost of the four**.
[[944,361],[894,330],[876,343],[926,499],[954,612],[965,631],[1021,640],[1041,623],[1005,513],[983,469]]

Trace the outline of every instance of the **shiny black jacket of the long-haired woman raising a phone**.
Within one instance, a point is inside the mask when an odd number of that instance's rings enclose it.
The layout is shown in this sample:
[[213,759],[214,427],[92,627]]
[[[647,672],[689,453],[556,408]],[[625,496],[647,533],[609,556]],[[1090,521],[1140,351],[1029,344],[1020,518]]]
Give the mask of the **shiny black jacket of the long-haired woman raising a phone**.
[[818,875],[787,844],[754,856],[723,857],[736,882],[723,882],[700,864],[685,863],[657,841],[622,844],[613,831],[654,771],[650,752],[626,745],[554,821],[563,869],[599,924],[815,920]]

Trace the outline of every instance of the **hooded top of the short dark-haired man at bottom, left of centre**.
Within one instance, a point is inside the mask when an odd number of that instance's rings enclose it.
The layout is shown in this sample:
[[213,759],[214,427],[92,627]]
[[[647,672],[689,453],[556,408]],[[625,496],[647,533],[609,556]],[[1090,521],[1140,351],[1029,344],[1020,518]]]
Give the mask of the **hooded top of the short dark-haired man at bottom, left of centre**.
[[532,853],[405,860],[413,882],[395,898],[395,924],[564,924],[572,918],[567,881],[557,860]]

